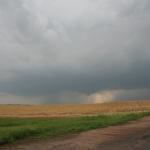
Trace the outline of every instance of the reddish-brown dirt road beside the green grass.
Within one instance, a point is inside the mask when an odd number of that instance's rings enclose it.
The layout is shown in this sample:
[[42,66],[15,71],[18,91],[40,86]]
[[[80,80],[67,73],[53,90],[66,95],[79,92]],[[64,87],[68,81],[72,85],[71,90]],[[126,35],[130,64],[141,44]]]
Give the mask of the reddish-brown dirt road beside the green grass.
[[55,140],[22,141],[0,150],[150,150],[150,117]]

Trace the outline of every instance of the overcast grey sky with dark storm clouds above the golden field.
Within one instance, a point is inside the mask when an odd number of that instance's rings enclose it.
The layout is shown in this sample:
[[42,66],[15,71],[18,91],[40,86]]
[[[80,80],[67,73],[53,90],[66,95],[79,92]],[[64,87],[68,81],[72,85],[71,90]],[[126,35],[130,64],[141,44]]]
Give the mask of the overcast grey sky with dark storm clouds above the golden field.
[[149,0],[0,0],[0,103],[150,99]]

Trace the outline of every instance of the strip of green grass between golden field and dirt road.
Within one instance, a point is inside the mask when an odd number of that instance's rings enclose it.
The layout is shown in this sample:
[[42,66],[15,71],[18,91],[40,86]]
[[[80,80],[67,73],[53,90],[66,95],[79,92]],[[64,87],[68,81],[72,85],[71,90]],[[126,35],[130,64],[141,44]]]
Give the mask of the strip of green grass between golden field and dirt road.
[[27,137],[57,137],[90,129],[127,123],[150,115],[150,112],[72,117],[55,119],[0,118],[0,144]]

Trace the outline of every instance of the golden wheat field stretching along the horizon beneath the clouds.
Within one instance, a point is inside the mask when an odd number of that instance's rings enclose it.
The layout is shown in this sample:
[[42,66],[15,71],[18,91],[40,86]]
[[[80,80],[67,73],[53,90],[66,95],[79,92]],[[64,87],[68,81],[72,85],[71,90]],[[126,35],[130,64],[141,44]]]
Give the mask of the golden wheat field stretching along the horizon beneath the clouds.
[[65,117],[140,111],[150,111],[150,101],[103,104],[0,105],[0,117]]

